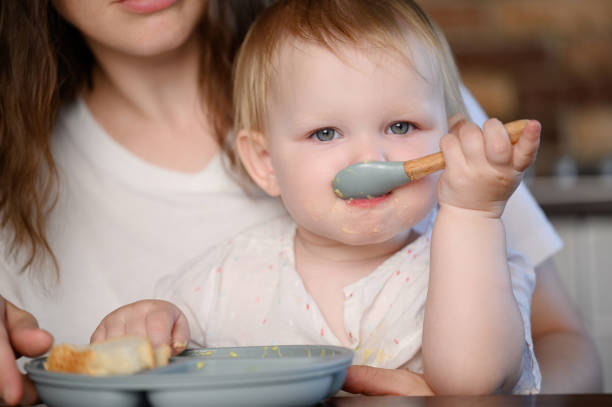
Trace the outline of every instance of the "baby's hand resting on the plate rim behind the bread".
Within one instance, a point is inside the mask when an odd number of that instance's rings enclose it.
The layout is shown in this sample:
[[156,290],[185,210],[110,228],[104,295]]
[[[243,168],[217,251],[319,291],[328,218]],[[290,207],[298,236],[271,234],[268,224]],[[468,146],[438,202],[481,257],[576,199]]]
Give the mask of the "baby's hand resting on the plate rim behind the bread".
[[137,301],[104,317],[91,336],[91,342],[128,335],[146,336],[153,347],[169,345],[176,355],[187,347],[189,325],[181,310],[170,302]]

